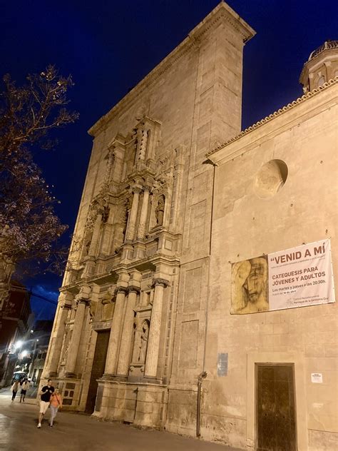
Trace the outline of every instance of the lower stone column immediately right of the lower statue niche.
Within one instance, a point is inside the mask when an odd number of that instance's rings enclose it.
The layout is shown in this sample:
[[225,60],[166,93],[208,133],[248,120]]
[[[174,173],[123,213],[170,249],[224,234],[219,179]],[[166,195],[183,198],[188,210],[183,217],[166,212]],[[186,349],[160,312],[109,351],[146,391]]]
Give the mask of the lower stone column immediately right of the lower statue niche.
[[145,377],[156,377],[158,370],[158,353],[160,346],[160,324],[162,319],[163,291],[168,286],[168,280],[155,279],[153,309],[151,310],[150,330],[147,358],[145,360]]

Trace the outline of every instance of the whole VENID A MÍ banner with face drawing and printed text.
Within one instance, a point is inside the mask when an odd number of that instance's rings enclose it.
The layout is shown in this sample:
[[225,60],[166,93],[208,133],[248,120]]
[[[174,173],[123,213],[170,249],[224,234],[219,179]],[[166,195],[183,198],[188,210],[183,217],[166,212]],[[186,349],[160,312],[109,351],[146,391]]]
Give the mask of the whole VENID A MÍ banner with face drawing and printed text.
[[329,239],[232,263],[231,313],[334,303]]

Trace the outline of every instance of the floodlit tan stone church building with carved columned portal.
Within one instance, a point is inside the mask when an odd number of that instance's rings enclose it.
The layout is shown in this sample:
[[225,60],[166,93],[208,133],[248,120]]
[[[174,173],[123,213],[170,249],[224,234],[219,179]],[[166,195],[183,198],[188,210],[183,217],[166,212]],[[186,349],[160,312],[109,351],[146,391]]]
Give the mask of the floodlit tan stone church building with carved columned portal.
[[302,98],[241,132],[254,34],[221,3],[89,131],[43,376],[70,410],[253,450],[266,364],[286,372],[291,424],[267,449],[333,450],[337,304],[232,315],[230,262],[331,238],[337,269],[338,49],[304,65]]

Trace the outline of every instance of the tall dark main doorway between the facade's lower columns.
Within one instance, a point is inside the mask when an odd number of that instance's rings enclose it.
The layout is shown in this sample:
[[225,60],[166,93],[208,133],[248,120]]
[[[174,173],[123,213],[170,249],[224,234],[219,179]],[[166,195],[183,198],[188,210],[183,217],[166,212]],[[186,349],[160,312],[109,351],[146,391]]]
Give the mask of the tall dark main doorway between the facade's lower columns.
[[96,393],[98,391],[98,382],[96,382],[96,380],[100,379],[100,377],[102,377],[104,373],[110,333],[110,330],[101,330],[100,332],[98,332],[98,337],[96,338],[93,368],[91,370],[91,382],[89,382],[86,402],[87,413],[93,413],[94,411]]

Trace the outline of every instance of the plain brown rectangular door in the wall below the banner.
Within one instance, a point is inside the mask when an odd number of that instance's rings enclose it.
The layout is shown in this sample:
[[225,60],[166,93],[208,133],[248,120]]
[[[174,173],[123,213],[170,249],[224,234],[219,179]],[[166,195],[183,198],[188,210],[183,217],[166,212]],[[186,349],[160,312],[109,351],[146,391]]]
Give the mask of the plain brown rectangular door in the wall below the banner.
[[293,365],[256,365],[257,451],[297,451]]

